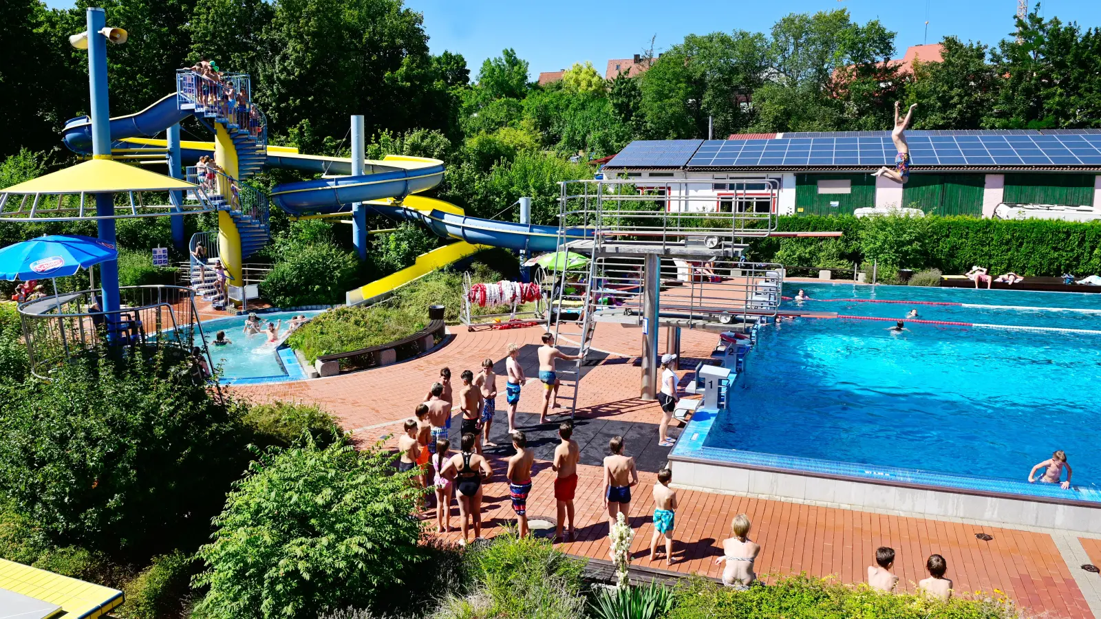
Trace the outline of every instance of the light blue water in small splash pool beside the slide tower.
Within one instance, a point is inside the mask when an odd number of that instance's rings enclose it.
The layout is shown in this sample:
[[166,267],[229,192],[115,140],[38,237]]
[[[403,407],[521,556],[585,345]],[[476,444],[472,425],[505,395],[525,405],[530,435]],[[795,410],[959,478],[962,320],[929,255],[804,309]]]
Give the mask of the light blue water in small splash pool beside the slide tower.
[[[283,327],[280,329],[280,336],[282,336],[286,333],[286,322],[299,314],[313,317],[319,312],[274,312],[258,314],[258,316],[265,327],[268,321],[282,319]],[[265,334],[244,335],[244,321],[246,316],[235,316],[203,323],[203,334],[206,336],[210,358],[216,367],[221,368],[221,376],[227,380],[285,377],[286,372],[275,355],[275,346],[268,343]],[[226,332],[226,338],[230,340],[230,344],[226,346],[214,345],[215,336],[219,330]]]

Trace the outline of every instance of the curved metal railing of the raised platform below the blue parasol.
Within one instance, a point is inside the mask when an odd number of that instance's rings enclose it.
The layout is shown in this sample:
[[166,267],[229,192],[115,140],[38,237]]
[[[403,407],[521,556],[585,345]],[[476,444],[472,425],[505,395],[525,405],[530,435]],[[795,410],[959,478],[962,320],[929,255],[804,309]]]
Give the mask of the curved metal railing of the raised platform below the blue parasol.
[[178,349],[181,358],[198,347],[207,367],[214,367],[190,289],[123,286],[119,289],[121,308],[112,312],[100,310],[99,294],[99,290],[85,290],[19,305],[32,374],[48,379],[67,359],[102,350],[165,346]]

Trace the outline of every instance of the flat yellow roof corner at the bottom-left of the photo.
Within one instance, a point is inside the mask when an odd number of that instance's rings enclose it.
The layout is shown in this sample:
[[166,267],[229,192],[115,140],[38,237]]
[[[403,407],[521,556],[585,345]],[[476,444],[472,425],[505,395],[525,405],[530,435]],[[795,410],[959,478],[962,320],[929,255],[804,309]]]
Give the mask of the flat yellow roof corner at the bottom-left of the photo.
[[122,591],[0,558],[0,588],[55,604],[65,619],[96,619],[122,604]]

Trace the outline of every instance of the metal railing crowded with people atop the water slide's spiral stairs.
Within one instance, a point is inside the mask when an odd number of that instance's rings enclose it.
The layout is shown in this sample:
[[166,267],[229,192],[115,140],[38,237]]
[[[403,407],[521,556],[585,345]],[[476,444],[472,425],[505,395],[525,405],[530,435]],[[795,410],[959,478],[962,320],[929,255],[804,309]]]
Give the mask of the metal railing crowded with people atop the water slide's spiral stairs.
[[252,102],[252,83],[247,74],[221,74],[215,79],[189,68],[176,69],[176,102],[212,113],[219,122],[248,131],[261,148],[268,145],[268,118]]

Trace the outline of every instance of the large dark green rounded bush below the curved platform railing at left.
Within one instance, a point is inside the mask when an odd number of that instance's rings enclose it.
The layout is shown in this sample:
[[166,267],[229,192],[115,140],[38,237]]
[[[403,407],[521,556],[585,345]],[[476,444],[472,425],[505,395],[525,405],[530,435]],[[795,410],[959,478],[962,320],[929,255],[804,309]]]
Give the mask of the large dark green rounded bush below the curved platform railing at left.
[[247,460],[230,408],[160,356],[74,360],[0,401],[0,489],[57,545],[197,545]]

